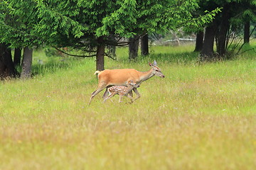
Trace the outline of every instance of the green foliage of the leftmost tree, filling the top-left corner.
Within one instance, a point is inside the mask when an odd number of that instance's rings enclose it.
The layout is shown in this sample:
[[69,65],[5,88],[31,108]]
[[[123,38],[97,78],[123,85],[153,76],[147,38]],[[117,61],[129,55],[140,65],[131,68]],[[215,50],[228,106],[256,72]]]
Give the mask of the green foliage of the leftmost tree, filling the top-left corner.
[[33,47],[41,45],[42,41],[33,30],[37,22],[34,1],[2,1],[0,8],[4,8],[0,18],[1,42],[12,47]]

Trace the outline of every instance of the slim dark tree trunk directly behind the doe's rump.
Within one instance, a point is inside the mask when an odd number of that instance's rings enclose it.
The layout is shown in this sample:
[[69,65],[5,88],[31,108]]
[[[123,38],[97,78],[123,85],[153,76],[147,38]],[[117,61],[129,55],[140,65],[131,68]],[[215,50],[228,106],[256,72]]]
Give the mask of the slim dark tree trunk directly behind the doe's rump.
[[97,40],[97,54],[96,54],[96,70],[104,70],[104,56],[105,56],[105,44],[103,37]]

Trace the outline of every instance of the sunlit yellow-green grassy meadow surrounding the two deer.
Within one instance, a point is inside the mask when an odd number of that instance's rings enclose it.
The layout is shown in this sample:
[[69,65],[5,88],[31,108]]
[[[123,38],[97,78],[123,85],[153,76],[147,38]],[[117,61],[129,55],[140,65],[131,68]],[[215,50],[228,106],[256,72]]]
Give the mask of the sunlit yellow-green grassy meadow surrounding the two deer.
[[[198,64],[193,45],[151,47],[105,69],[166,76],[139,87],[132,104],[102,104],[95,59],[34,52],[33,78],[0,83],[0,169],[256,169],[256,57]],[[38,64],[42,60],[43,64]]]

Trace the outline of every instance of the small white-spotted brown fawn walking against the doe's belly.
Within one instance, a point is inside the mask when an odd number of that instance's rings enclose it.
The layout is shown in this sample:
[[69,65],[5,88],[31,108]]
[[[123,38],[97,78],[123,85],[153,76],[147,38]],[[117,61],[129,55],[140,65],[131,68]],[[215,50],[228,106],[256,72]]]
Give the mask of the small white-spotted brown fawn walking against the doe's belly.
[[134,102],[134,98],[132,96],[128,96],[129,92],[132,91],[134,88],[138,88],[138,84],[134,84],[133,81],[129,81],[127,86],[111,86],[107,88],[109,92],[109,96],[104,98],[103,103],[107,101],[107,99],[112,98],[114,95],[119,94],[119,103],[122,102],[122,97],[127,96],[131,99],[132,103]]

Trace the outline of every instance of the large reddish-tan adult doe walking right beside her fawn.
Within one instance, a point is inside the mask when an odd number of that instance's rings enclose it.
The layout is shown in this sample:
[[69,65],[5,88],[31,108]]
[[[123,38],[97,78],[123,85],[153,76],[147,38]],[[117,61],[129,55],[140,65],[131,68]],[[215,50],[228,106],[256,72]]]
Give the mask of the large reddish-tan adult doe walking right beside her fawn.
[[[156,61],[154,64],[149,63],[151,69],[147,72],[139,72],[136,69],[105,69],[102,72],[96,71],[95,74],[98,74],[99,83],[97,89],[92,93],[90,97],[90,102],[97,94],[100,93],[103,89],[109,86],[127,86],[129,81],[133,81],[136,84],[141,84],[142,81],[153,77],[154,75],[164,78],[161,69],[157,67]],[[137,98],[140,97],[139,91],[136,88],[133,89]],[[107,96],[108,91],[105,91],[104,98]],[[135,98],[135,100],[137,99]]]

